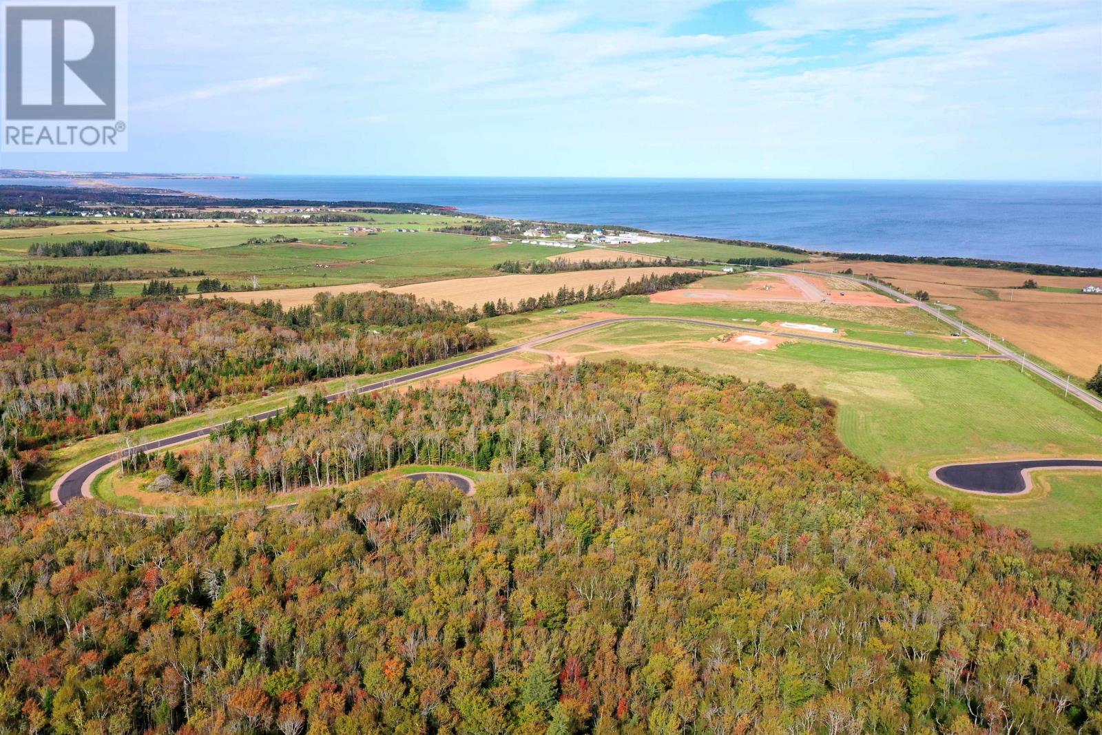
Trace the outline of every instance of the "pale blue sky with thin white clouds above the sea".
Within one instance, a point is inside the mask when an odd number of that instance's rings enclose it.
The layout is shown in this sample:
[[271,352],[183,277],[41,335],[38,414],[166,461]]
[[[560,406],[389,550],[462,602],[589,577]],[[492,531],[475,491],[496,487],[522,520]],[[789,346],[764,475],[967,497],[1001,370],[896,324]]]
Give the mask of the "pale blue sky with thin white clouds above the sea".
[[131,0],[129,152],[227,174],[1102,180],[1099,0]]

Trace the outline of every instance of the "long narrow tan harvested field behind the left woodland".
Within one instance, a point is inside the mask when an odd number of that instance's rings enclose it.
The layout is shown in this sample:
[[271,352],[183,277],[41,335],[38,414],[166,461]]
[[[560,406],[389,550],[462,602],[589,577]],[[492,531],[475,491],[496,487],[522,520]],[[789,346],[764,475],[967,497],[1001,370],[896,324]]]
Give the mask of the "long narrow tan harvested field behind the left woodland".
[[412,293],[428,301],[450,301],[457,306],[480,306],[487,301],[506,301],[516,303],[521,299],[539,298],[544,293],[554,293],[562,287],[585,289],[590,285],[599,287],[613,281],[617,287],[631,279],[638,281],[644,275],[669,275],[695,270],[692,268],[612,268],[608,270],[574,271],[569,273],[540,273],[538,275],[509,274],[489,275],[485,278],[456,278],[444,281],[428,281],[410,283],[392,289],[385,289],[378,283],[349,283],[346,285],[323,285],[306,289],[272,289],[268,291],[241,291],[219,293],[218,298],[235,301],[260,302],[266,299],[278,301],[283,306],[301,306],[313,303],[318,293],[358,293],[360,291],[391,291],[393,293]]

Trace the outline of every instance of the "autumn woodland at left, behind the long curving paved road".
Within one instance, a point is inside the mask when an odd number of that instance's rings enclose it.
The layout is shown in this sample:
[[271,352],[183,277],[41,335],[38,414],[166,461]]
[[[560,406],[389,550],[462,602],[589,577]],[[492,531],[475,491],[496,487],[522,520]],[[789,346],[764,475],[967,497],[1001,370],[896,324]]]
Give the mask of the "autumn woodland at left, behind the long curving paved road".
[[[379,303],[391,303],[389,295]],[[11,510],[26,501],[24,478],[63,440],[160,423],[219,397],[398,370],[493,342],[483,328],[435,318],[435,305],[414,302],[401,323],[388,324],[356,321],[322,301],[321,316],[309,318],[301,310],[269,317],[263,305],[213,300],[0,302],[0,504]]]

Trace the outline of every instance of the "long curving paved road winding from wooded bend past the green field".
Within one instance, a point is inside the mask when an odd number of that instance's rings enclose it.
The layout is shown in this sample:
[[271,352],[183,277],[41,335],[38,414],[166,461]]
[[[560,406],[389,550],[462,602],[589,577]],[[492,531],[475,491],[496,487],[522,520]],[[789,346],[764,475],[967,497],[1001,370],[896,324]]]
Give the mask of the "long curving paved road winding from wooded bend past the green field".
[[[569,329],[562,329],[561,332],[555,332],[554,334],[544,335],[542,337],[537,337],[534,339],[529,339],[522,344],[512,345],[509,347],[500,347],[498,349],[493,349],[487,353],[478,353],[476,355],[471,355],[462,359],[445,363],[443,365],[434,365],[426,368],[421,368],[420,370],[414,370],[413,372],[408,372],[403,376],[397,378],[388,378],[386,380],[378,380],[376,382],[368,383],[366,386],[360,386],[354,390],[342,391],[339,393],[333,393],[326,396],[326,401],[334,401],[338,398],[344,398],[347,396],[356,393],[370,393],[383,388],[392,388],[395,386],[412,382],[414,380],[421,380],[424,378],[431,378],[433,376],[440,375],[441,372],[447,372],[455,370],[457,368],[468,367],[471,365],[477,365],[479,363],[485,363],[487,360],[497,359],[499,357],[505,357],[506,355],[512,355],[514,353],[523,352],[530,349],[538,345],[545,344],[548,342],[554,342],[557,339],[562,339],[564,337],[570,337],[572,335],[579,334],[581,332],[588,332],[591,329],[598,329],[611,324],[620,324],[623,322],[677,322],[681,324],[699,324],[702,326],[714,326],[731,332],[756,332],[759,334],[773,334],[782,336],[790,339],[803,339],[807,342],[819,342],[829,345],[845,345],[850,347],[863,347],[865,349],[875,349],[886,353],[895,353],[899,355],[917,355],[923,357],[942,357],[942,358],[954,358],[954,359],[1006,359],[1005,357],[998,355],[961,355],[961,354],[949,354],[949,353],[933,353],[921,349],[909,349],[906,347],[893,347],[890,345],[873,345],[863,342],[853,342],[849,339],[835,339],[832,337],[823,337],[810,334],[796,334],[791,332],[779,332],[776,329],[767,329],[764,327],[752,327],[744,326],[737,323],[727,322],[710,322],[706,320],[694,320],[694,318],[682,318],[676,316],[623,316],[614,318],[599,320],[597,322],[590,322],[587,324],[581,324],[579,326],[571,327]],[[262,413],[257,413],[251,419],[263,421],[264,419],[270,419],[271,417],[279,413],[282,409],[272,409],[270,411],[264,411]],[[203,429],[195,429],[193,431],[176,434],[174,436],[166,436],[165,439],[159,439],[152,442],[145,442],[131,448],[132,452],[152,452],[154,450],[162,450],[169,446],[174,446],[176,444],[183,444],[196,439],[202,439],[208,435],[215,429],[225,425],[225,423],[213,424],[210,426],[204,426]],[[108,466],[115,464],[120,458],[117,452],[109,452],[95,460],[89,460],[84,464],[71,469],[61,479],[58,479],[51,491],[51,499],[54,505],[64,506],[65,504],[74,500],[78,497],[91,497],[91,480],[95,479],[101,471]]]

